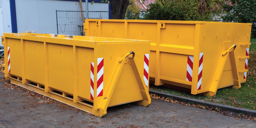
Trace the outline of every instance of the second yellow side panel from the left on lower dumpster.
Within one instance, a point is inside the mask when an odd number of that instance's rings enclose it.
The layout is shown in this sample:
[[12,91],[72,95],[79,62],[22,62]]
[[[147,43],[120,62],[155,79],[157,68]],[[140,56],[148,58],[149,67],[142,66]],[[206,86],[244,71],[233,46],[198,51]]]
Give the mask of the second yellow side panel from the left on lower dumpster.
[[45,84],[44,42],[23,40],[26,79]]

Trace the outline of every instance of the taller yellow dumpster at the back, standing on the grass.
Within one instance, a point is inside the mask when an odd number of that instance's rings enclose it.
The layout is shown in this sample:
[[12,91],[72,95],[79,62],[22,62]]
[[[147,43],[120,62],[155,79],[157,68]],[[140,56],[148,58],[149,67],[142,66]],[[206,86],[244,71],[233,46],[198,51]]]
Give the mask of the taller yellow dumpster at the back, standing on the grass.
[[86,36],[150,40],[149,80],[214,95],[246,81],[251,23],[86,19]]

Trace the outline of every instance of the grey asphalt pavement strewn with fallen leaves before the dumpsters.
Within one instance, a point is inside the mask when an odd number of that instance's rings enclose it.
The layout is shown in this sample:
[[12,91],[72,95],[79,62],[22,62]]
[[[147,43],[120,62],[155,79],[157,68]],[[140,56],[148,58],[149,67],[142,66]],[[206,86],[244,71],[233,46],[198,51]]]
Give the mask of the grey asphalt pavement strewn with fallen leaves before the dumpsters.
[[149,107],[135,103],[110,107],[107,115],[100,118],[20,87],[1,84],[0,128],[5,127],[251,128],[256,127],[256,122],[156,99],[152,99]]

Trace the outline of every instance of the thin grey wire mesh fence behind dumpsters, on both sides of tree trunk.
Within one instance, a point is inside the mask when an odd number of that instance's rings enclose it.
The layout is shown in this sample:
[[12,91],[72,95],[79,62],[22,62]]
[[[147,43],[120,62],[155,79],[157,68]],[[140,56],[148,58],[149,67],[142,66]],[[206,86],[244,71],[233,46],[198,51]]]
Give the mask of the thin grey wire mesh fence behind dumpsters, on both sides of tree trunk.
[[[85,17],[85,12],[84,17]],[[88,11],[89,19],[111,19],[108,11]],[[126,12],[125,19],[143,20],[145,13]],[[57,34],[84,36],[84,25],[81,11],[58,11],[56,10]],[[85,20],[85,19],[84,19]]]

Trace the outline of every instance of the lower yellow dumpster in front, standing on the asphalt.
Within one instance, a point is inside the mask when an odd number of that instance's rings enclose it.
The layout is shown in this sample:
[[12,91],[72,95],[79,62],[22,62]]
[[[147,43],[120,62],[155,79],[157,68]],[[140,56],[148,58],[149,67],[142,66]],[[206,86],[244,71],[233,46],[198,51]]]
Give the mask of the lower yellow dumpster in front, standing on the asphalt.
[[2,44],[12,84],[100,117],[110,106],[151,103],[149,41],[4,33]]

